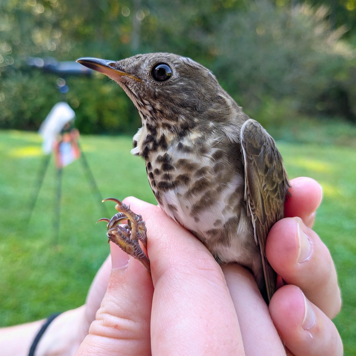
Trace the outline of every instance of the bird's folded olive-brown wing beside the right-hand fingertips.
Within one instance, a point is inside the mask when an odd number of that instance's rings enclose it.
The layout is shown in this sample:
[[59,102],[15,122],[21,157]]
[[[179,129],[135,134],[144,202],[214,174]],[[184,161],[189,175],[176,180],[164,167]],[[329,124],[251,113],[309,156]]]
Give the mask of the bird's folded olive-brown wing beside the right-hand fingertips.
[[273,138],[255,120],[241,127],[245,163],[245,199],[251,212],[255,240],[260,246],[268,302],[276,290],[276,272],[265,255],[267,234],[283,218],[284,200],[290,187],[282,156]]

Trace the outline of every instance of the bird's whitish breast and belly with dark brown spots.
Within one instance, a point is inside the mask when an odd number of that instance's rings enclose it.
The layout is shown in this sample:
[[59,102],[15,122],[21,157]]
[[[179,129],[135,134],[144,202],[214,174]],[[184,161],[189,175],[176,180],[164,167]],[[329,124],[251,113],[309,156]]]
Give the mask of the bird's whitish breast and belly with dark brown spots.
[[236,145],[185,137],[166,150],[146,152],[148,180],[167,215],[197,236],[218,261],[251,265],[251,251],[260,252],[247,214]]

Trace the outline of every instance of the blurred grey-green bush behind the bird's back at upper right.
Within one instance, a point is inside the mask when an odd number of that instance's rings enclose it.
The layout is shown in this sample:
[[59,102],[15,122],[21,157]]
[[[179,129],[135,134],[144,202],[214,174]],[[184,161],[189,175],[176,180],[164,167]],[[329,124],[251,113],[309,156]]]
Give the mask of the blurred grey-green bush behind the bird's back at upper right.
[[[344,89],[342,74],[353,57],[339,41],[342,29],[332,31],[326,14],[323,7],[302,5],[286,11],[258,1],[244,16],[228,14],[212,38],[217,53],[213,69],[227,91],[240,97],[246,111],[262,124],[268,126],[274,115],[286,111],[283,124],[288,110],[315,115],[334,109],[333,115],[345,114],[336,103],[328,106],[328,100],[333,90]],[[263,112],[271,111],[271,104],[276,112],[266,117]],[[355,114],[350,112],[348,118]]]

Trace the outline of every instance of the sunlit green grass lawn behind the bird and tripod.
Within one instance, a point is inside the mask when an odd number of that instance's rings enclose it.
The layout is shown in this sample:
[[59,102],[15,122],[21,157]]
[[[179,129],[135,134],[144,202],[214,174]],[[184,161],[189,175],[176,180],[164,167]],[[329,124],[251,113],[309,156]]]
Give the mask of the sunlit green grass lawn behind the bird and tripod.
[[[130,155],[131,137],[82,136],[85,156],[102,197],[128,195],[155,202],[146,170]],[[335,260],[343,308],[335,319],[345,355],[356,345],[356,153],[353,148],[278,142],[290,178],[309,176],[324,188],[315,230]],[[0,131],[0,326],[45,318],[83,304],[109,253],[103,207],[81,161],[63,170],[58,244],[52,227],[56,168],[49,164],[27,222],[43,156],[36,133]],[[106,203],[112,215],[113,203]]]

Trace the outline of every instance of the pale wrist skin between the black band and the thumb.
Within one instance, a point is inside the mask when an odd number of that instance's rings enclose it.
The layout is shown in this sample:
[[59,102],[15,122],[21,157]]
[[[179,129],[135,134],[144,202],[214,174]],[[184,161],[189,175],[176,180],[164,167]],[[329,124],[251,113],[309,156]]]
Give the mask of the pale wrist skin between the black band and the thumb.
[[83,321],[84,305],[68,310],[48,325],[38,342],[35,356],[72,356],[80,342],[80,323]]

